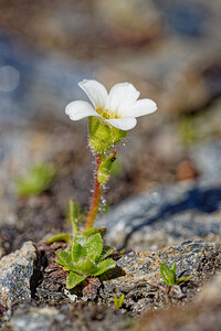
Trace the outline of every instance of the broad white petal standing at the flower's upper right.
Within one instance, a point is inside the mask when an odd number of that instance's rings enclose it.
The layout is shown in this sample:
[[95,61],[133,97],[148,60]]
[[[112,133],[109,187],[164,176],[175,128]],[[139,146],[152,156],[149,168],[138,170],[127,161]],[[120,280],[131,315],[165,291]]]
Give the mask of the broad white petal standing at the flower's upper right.
[[130,83],[119,83],[112,87],[106,109],[117,111],[120,115],[122,109],[136,102],[139,97],[139,92]]

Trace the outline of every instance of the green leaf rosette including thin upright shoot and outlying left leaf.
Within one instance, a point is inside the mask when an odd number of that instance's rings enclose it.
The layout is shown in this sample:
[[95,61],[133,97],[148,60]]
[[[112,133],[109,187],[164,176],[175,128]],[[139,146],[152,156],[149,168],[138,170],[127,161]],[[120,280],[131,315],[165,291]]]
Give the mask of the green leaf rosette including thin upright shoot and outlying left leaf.
[[46,241],[46,244],[65,242],[66,250],[57,252],[56,261],[70,271],[66,288],[72,289],[87,277],[99,276],[116,266],[115,261],[107,258],[114,249],[103,246],[106,227],[91,227],[78,231],[80,207],[70,200],[69,218],[72,224],[72,234],[60,233]]

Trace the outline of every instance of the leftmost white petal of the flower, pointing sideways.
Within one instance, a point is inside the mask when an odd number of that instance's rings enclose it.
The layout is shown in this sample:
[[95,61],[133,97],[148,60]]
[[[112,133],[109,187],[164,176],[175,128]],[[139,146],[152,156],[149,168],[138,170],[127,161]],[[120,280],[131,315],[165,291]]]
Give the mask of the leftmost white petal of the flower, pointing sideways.
[[98,116],[98,113],[94,110],[91,104],[86,102],[72,102],[65,108],[66,115],[70,116],[72,120],[78,120],[87,116]]

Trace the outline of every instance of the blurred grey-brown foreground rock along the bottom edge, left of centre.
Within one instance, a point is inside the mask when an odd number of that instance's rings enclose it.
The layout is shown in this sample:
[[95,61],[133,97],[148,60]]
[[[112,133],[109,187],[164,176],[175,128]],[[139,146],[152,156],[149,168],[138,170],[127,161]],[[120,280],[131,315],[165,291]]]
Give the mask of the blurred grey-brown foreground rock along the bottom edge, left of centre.
[[[10,331],[123,331],[134,325],[131,318],[95,302],[65,305],[60,308],[18,308],[7,324]],[[7,329],[8,330],[8,329]]]

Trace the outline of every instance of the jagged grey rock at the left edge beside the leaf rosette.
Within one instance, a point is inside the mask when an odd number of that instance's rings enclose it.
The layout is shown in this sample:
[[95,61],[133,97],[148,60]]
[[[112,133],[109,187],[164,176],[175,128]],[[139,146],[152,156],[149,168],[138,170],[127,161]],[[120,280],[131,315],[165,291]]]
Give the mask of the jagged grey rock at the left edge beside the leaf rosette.
[[32,242],[0,260],[0,305],[11,307],[33,296],[38,278],[38,252]]

